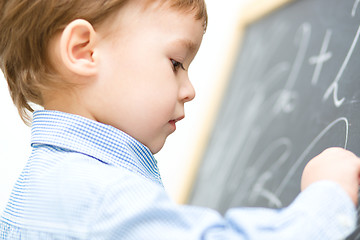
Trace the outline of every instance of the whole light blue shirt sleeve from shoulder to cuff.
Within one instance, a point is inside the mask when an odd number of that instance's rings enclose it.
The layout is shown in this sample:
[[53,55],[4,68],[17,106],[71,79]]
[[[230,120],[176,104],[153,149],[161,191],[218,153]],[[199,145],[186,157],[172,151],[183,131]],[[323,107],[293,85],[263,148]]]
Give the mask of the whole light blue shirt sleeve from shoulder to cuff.
[[356,209],[336,183],[322,181],[287,208],[214,210],[180,206],[164,189],[125,178],[98,200],[89,239],[245,240],[343,239],[355,229]]

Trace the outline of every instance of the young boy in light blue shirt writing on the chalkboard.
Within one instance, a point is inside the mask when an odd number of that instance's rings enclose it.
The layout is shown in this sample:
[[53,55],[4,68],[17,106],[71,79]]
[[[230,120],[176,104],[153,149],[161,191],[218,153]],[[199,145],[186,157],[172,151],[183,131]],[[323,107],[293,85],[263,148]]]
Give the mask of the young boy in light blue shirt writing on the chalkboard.
[[332,148],[282,210],[178,206],[153,154],[184,118],[203,0],[1,0],[0,66],[32,154],[1,239],[341,239],[356,223],[360,161]]

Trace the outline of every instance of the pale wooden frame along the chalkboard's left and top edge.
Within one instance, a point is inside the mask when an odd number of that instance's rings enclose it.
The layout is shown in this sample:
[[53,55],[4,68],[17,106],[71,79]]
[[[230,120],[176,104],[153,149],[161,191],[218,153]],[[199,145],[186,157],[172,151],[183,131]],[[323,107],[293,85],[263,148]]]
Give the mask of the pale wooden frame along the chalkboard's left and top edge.
[[178,203],[185,204],[188,202],[201,160],[208,145],[212,129],[214,128],[230,76],[234,70],[237,54],[242,46],[242,39],[246,28],[256,20],[264,18],[276,9],[293,1],[295,0],[252,0],[240,11],[240,17],[235,25],[236,27],[233,31],[233,37],[228,45],[228,49],[226,50],[227,54],[223,63],[222,71],[220,72],[216,86],[211,94],[211,101],[207,106],[207,111],[204,116],[206,121],[204,122],[202,129],[199,130],[196,146],[194,148],[195,151],[192,154],[191,164],[186,172],[187,175],[184,178],[180,194],[178,195]]

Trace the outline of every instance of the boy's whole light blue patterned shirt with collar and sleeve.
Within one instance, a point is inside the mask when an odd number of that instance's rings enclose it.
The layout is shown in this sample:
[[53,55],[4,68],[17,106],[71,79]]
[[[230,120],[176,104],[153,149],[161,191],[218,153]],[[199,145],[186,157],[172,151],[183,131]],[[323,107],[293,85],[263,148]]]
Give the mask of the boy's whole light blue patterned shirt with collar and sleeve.
[[287,208],[216,211],[175,204],[147,147],[80,116],[37,111],[32,153],[0,218],[0,239],[341,239],[356,210],[318,182]]

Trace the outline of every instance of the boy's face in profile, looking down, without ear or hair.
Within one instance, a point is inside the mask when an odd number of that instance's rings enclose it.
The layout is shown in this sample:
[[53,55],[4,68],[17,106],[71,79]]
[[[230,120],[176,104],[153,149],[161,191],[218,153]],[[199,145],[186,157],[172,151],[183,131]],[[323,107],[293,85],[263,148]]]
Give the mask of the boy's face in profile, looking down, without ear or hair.
[[98,44],[93,116],[157,153],[185,116],[184,103],[195,97],[187,70],[202,41],[203,21],[166,7],[142,12],[130,3],[110,27],[114,35]]

